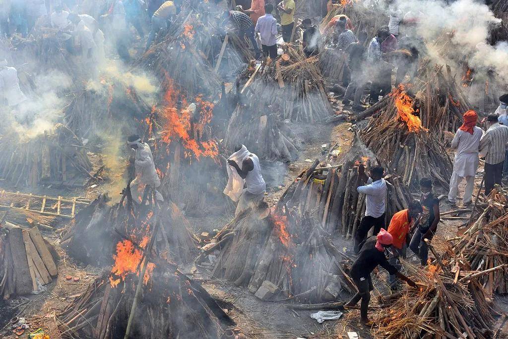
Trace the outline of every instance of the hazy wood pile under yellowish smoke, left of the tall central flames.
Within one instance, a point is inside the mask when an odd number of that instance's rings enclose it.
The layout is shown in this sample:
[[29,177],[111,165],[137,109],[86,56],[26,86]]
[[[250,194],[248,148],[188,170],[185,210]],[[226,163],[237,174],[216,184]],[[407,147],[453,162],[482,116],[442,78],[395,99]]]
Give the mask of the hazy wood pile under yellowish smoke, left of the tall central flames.
[[[66,126],[78,137],[90,140],[90,144],[107,142],[104,135],[134,134],[141,129],[139,122],[151,111],[142,94],[124,81],[103,76],[72,94],[63,119]],[[122,123],[119,125],[118,121]]]

